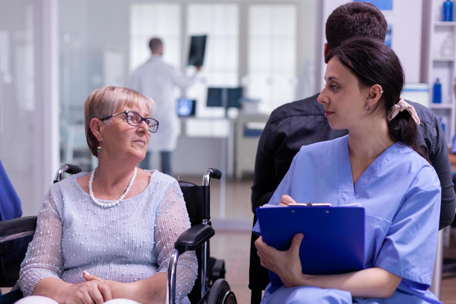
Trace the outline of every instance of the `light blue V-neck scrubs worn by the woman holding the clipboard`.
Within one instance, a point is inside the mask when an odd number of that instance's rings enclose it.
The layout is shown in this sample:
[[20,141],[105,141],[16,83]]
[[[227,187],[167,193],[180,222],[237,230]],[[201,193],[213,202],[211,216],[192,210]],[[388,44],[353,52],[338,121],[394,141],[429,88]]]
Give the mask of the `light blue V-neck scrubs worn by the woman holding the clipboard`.
[[[378,266],[403,279],[389,299],[353,300],[440,303],[427,290],[437,247],[440,181],[434,168],[414,150],[392,144],[353,185],[348,135],[303,146],[269,204],[279,204],[286,193],[298,203],[342,206],[357,202],[364,207],[366,268]],[[260,232],[258,222],[252,231]],[[323,289],[325,295],[322,289],[309,286],[283,286],[274,291],[267,289],[262,303],[307,303],[300,300],[305,297],[326,303],[323,298],[328,296],[332,300],[327,303],[352,303],[350,293],[337,289]],[[341,297],[346,299],[338,300]]]

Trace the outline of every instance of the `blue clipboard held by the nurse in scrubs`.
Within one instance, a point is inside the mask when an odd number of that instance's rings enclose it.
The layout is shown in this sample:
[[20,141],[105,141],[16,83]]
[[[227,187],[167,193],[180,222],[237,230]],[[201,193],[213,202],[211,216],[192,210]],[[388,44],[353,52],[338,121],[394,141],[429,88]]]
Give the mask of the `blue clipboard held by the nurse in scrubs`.
[[[256,208],[263,241],[288,250],[296,233],[303,233],[299,256],[302,273],[338,274],[365,268],[364,208],[288,206]],[[283,285],[269,270],[272,286]]]

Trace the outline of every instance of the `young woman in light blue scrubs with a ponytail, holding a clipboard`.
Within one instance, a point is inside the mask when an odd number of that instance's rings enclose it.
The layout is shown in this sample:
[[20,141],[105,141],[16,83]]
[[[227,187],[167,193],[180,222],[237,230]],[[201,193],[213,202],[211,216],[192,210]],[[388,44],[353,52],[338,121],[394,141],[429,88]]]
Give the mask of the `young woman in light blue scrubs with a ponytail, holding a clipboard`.
[[[327,56],[318,97],[333,129],[348,135],[303,146],[269,204],[359,202],[365,208],[366,269],[301,273],[296,234],[287,251],[255,246],[285,286],[264,303],[440,303],[428,290],[440,215],[440,182],[415,142],[415,109],[400,98],[404,72],[382,41],[352,38]],[[258,222],[254,232],[259,232]],[[308,252],[309,256],[312,252]],[[335,252],[334,254],[337,254]]]

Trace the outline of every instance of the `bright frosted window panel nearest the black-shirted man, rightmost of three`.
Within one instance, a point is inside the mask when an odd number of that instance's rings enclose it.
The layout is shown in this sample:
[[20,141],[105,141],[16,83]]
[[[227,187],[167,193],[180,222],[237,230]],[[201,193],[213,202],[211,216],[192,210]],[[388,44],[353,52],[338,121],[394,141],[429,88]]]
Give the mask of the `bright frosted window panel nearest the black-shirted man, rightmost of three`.
[[296,6],[249,7],[248,96],[261,112],[294,98],[296,83]]

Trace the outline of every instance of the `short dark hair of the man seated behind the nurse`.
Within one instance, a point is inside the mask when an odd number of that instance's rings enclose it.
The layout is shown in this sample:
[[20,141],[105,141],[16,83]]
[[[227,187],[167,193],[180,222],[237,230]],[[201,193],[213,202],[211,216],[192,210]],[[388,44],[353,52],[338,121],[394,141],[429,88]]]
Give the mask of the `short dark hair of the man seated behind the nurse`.
[[333,49],[348,38],[362,36],[385,40],[388,24],[375,5],[366,2],[349,2],[339,6],[326,21],[326,41]]

